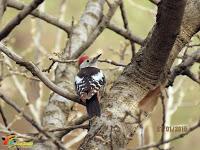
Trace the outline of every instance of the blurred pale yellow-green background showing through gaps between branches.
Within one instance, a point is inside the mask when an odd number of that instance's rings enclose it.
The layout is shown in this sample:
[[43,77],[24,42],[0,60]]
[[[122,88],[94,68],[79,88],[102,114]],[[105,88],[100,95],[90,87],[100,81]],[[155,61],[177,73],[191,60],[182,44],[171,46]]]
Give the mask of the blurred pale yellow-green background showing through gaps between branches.
[[[23,3],[30,3],[31,0],[19,0]],[[63,21],[71,24],[72,18],[77,23],[86,5],[86,0],[49,0],[45,1],[39,9],[52,16],[58,17]],[[129,27],[134,35],[145,39],[148,32],[151,30],[156,19],[157,6],[148,0],[125,0],[125,8],[127,11]],[[107,9],[107,8],[105,8]],[[7,7],[7,10],[2,18],[0,28],[6,25],[13,17],[16,16],[18,10]],[[123,27],[120,11],[118,10],[111,20],[112,23]],[[53,57],[54,53],[60,53],[65,48],[67,42],[67,34],[61,29],[48,24],[33,16],[28,16],[19,26],[17,26],[11,34],[6,38],[6,43],[17,54],[37,64],[39,68],[45,69],[51,64],[49,57]],[[191,44],[199,44],[200,39],[194,37]],[[199,46],[188,48],[188,53],[198,49]],[[120,53],[123,49],[125,57],[121,58]],[[136,50],[140,48],[136,44]],[[129,42],[118,34],[106,29],[97,40],[86,51],[89,55],[94,55],[97,51],[102,51],[102,59],[112,59],[116,62],[128,64],[131,58],[131,46]],[[181,56],[182,54],[180,54]],[[1,60],[6,62],[6,65],[0,67],[1,77],[0,90],[13,99],[26,113],[41,116],[44,106],[48,103],[48,98],[51,91],[33,78],[31,74],[24,68],[17,66],[12,60],[1,55]],[[174,65],[180,63],[177,59]],[[2,62],[0,62],[2,63]],[[116,67],[106,63],[100,63],[102,69],[107,72],[114,72],[115,69],[122,71],[123,67]],[[50,73],[46,73],[48,77],[54,79],[54,69]],[[192,71],[199,71],[199,64],[194,64]],[[111,76],[115,79],[117,76]],[[167,126],[184,126],[189,128],[200,119],[200,86],[191,79],[185,76],[176,78],[174,86],[167,90],[168,99],[166,104]],[[32,104],[27,107],[26,101],[29,100]],[[129,148],[138,147],[141,144],[141,132],[144,132],[144,143],[150,144],[157,142],[160,139],[161,132],[158,128],[162,124],[162,106],[161,101],[154,109],[151,117],[144,123],[143,129],[138,129],[138,134],[129,143]],[[36,132],[33,127],[16,113],[10,106],[0,101],[2,109],[6,115],[10,128],[19,133]],[[33,108],[31,108],[33,107]],[[35,114],[31,112],[35,111]],[[84,108],[80,108],[82,113],[85,113]],[[0,117],[0,123],[3,124]],[[175,150],[199,150],[200,129],[191,132],[188,136],[167,145]],[[81,133],[84,133],[78,140],[74,140]],[[69,149],[76,149],[77,143],[84,137],[86,130],[78,129],[71,132],[66,137],[66,144]],[[183,132],[166,132],[167,137],[173,137]],[[3,134],[0,133],[0,136]],[[0,149],[4,150],[6,147]]]

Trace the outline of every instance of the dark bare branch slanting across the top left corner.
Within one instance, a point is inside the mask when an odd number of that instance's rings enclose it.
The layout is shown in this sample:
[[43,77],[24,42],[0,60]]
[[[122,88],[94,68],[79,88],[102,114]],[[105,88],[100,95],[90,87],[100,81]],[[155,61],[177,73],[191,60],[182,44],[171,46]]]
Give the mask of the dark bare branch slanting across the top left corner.
[[23,10],[17,14],[1,31],[0,41],[5,38],[21,21],[28,16],[35,8],[37,8],[44,0],[33,0],[28,6],[24,7]]

